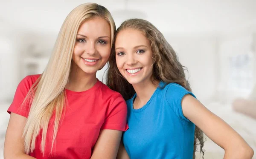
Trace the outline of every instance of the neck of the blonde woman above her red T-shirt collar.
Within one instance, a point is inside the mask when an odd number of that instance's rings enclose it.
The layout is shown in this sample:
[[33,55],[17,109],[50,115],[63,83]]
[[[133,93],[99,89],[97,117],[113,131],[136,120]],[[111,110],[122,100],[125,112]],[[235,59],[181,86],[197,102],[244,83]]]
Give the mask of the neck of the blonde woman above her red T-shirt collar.
[[87,74],[78,66],[73,65],[70,71],[70,78],[66,88],[71,91],[86,91],[95,85],[97,82],[96,73]]

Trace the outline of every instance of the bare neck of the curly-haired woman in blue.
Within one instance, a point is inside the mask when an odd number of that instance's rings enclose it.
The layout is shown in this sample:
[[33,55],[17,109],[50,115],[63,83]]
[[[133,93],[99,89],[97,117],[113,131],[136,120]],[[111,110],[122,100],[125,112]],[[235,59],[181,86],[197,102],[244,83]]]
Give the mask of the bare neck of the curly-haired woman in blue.
[[159,81],[152,82],[151,80],[134,84],[133,88],[137,94],[137,97],[134,101],[134,108],[141,108],[143,105],[145,105],[154,94],[154,91],[157,89],[158,85]]

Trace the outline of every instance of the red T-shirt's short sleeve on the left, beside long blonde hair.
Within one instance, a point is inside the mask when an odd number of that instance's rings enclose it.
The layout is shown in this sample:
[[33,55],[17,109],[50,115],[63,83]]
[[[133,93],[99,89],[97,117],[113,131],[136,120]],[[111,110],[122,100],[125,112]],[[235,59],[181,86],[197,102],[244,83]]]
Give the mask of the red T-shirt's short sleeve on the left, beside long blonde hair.
[[23,80],[20,81],[19,85],[17,86],[12,104],[7,110],[9,114],[12,112],[26,118],[28,117],[30,102],[24,102],[23,105],[22,103],[32,85],[32,80],[29,76],[26,76]]

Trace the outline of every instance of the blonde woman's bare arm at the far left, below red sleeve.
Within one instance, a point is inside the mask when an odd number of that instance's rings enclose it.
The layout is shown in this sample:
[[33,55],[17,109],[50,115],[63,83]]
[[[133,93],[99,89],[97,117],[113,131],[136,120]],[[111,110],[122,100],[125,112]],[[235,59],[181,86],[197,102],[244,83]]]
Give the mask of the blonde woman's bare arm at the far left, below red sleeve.
[[22,139],[27,118],[11,113],[4,142],[4,159],[35,159],[24,152]]

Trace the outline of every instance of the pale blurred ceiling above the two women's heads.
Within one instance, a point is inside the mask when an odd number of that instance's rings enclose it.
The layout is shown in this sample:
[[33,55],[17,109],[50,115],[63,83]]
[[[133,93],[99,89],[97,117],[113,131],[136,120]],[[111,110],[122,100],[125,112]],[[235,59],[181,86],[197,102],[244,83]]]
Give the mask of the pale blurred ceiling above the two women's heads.
[[[67,14],[84,0],[0,0],[0,24],[58,32]],[[92,0],[113,14],[116,25],[140,15],[164,33],[212,33],[256,23],[256,0]],[[126,5],[125,5],[126,4]],[[121,17],[119,16],[120,14]],[[122,14],[123,13],[123,14]],[[126,13],[126,14],[125,14]]]

